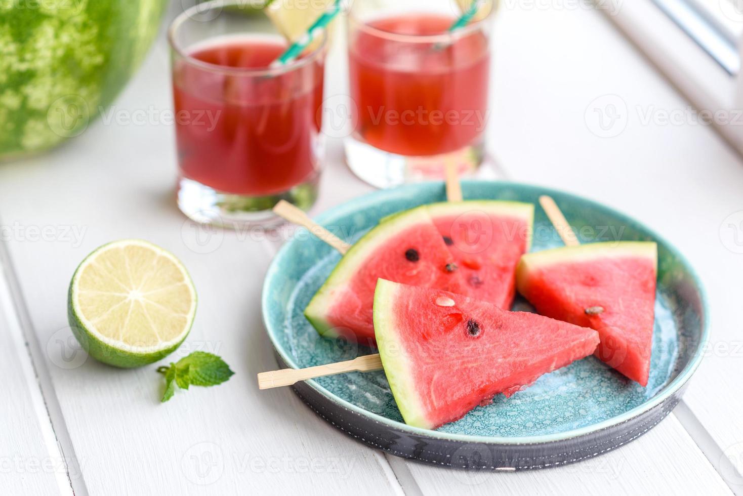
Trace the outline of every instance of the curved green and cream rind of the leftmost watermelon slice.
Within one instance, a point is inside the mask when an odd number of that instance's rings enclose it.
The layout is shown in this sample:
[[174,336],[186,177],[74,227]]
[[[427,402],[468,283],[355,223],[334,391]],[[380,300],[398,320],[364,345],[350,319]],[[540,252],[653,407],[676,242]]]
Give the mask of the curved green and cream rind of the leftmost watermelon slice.
[[328,276],[325,284],[322,284],[322,287],[305,308],[305,317],[320,335],[328,338],[340,337],[340,333],[334,330],[334,326],[328,322],[325,316],[335,303],[337,293],[343,290],[345,284],[357,273],[359,267],[369,258],[369,255],[389,238],[397,235],[400,230],[417,223],[427,222],[430,222],[430,217],[425,206],[406,210],[395,215],[395,218],[388,222],[379,223],[348,249],[348,252],[343,255],[343,258],[340,259],[333,272]]

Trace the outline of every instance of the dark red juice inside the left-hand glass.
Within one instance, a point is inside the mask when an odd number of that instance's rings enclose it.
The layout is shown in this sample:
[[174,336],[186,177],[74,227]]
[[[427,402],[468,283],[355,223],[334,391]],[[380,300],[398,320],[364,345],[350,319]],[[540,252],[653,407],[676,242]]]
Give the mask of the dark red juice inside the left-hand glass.
[[[211,42],[173,71],[182,177],[233,195],[273,195],[319,171],[322,56],[279,75],[267,68],[287,45],[250,36]],[[219,66],[219,67],[214,67]]]

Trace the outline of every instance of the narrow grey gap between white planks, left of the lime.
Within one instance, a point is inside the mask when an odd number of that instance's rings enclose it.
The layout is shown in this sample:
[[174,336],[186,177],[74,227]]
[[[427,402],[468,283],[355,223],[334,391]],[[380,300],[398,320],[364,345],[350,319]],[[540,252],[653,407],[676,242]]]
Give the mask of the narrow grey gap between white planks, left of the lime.
[[62,460],[65,466],[64,474],[55,471],[59,493],[87,496],[88,489],[85,487],[80,463],[75,456],[62,408],[56,398],[51,375],[28,315],[10,251],[4,241],[0,241],[0,306],[4,308],[10,324],[8,332],[11,339],[17,345],[19,360],[23,364],[22,373],[28,385],[48,455]]

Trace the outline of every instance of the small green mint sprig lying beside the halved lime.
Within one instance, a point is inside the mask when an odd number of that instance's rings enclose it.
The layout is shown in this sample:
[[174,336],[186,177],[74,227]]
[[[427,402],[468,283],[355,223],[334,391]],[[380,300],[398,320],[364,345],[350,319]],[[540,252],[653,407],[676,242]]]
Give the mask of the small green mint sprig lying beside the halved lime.
[[173,397],[176,385],[181,389],[188,389],[189,385],[214,386],[234,374],[223,359],[206,351],[194,351],[176,363],[170,362],[168,367],[158,367],[158,372],[165,376],[163,403]]

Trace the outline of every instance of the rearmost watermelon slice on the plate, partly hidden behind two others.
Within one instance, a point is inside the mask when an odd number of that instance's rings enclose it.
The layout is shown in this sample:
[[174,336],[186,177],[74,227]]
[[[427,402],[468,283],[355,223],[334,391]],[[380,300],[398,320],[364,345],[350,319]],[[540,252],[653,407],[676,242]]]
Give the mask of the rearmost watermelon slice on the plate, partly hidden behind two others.
[[454,255],[467,296],[510,310],[516,265],[531,247],[534,206],[496,200],[434,203],[433,222]]

